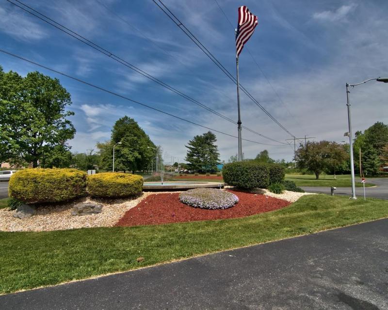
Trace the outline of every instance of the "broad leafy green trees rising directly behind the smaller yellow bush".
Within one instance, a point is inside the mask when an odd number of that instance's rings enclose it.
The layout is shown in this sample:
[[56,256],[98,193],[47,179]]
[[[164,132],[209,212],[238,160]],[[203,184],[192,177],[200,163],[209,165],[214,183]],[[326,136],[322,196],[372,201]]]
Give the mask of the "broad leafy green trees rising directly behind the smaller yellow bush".
[[[156,146],[134,119],[124,116],[113,125],[111,141],[97,143],[101,158],[101,167],[118,171],[146,170],[155,154]],[[148,148],[150,147],[150,148]],[[112,160],[111,160],[112,158]]]

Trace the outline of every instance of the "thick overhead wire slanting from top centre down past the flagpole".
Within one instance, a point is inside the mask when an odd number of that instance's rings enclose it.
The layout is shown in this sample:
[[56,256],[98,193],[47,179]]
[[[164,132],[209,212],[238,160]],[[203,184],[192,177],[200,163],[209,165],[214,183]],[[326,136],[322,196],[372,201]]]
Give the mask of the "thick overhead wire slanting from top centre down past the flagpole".
[[[157,2],[157,0],[152,0],[162,11],[163,13],[168,16],[177,26],[180,30],[182,30],[193,42],[194,44],[199,47],[205,54],[206,56],[208,56],[210,58],[210,60],[212,62],[214,62],[216,64],[217,67],[219,67],[221,69],[221,71],[223,71],[225,73],[225,75],[231,79],[236,85],[237,85],[237,80],[236,78],[234,78],[234,76],[224,67],[224,65],[219,62],[215,57],[214,55],[194,36],[194,34],[189,30],[187,29],[187,27],[178,19],[177,16],[175,16],[171,11],[170,9],[164,5],[164,3],[161,1],[161,0],[158,0],[161,5],[159,5],[159,3]],[[166,10],[168,12],[166,12]],[[170,16],[170,14],[171,17]],[[280,124],[276,119],[275,117],[273,117],[271,115],[270,112],[268,112],[260,103],[259,101],[256,100],[255,97],[253,97],[240,83],[240,89],[242,89],[243,93],[245,93],[265,114],[268,115],[269,118],[271,118],[276,124],[278,124],[284,131],[286,131],[289,135],[291,135],[292,137],[294,137],[294,135],[291,134],[290,131],[287,130],[286,127],[284,127],[282,124]]]

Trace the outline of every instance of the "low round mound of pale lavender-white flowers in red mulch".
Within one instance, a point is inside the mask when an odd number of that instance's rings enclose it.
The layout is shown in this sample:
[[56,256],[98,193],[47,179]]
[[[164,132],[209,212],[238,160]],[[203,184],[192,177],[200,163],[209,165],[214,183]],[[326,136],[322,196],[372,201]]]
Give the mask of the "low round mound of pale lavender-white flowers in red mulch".
[[239,202],[239,198],[225,190],[194,188],[179,194],[179,201],[201,209],[227,209]]

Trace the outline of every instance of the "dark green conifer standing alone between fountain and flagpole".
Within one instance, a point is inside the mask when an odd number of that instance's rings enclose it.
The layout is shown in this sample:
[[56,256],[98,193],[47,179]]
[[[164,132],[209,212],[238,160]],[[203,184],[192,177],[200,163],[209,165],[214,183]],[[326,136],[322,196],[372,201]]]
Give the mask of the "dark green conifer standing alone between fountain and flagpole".
[[220,154],[215,144],[216,136],[211,132],[195,136],[185,147],[188,149],[185,160],[189,167],[195,171],[217,171],[220,162]]

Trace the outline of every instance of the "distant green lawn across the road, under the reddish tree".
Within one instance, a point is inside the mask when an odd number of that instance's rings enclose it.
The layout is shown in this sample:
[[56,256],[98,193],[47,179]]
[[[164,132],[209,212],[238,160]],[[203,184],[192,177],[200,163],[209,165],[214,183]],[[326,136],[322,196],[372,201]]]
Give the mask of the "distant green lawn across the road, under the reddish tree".
[[[286,180],[294,181],[296,186],[336,186],[336,187],[351,187],[352,180],[350,174],[336,175],[336,179],[333,179],[333,175],[326,174],[320,175],[319,179],[315,179],[313,174],[286,174]],[[358,182],[360,178],[356,176],[356,187],[362,187],[362,183]],[[374,186],[372,183],[366,183],[365,187]]]

